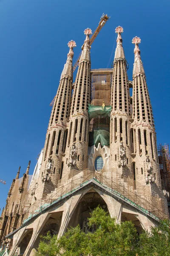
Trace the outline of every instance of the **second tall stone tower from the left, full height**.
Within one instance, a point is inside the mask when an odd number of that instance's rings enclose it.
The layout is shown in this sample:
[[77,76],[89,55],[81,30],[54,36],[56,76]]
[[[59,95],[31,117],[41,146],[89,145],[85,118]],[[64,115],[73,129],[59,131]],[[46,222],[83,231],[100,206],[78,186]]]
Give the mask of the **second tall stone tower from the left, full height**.
[[[91,58],[90,58],[90,38],[91,29],[84,31],[86,35],[84,48],[79,60],[76,80],[74,83],[74,91],[71,102],[71,114],[68,128],[68,147],[66,151],[66,159],[64,162],[64,175],[68,175],[71,169],[83,170],[87,168],[88,156],[88,104],[90,103],[91,94]],[[72,160],[71,152],[77,155]],[[77,152],[77,153],[76,153]]]

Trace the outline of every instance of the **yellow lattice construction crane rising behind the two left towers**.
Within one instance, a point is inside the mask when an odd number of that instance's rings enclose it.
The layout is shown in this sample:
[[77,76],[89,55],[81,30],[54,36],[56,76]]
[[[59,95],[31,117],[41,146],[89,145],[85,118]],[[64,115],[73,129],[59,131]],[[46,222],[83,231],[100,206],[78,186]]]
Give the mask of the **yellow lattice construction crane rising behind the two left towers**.
[[[93,44],[96,36],[99,34],[100,30],[102,29],[103,26],[105,26],[105,23],[110,19],[110,17],[107,15],[107,14],[104,14],[102,15],[102,17],[100,18],[100,21],[99,21],[99,25],[98,27],[96,28],[96,30],[94,31],[93,35],[91,36],[90,38],[90,45]],[[84,44],[82,45],[82,50],[84,49]],[[80,52],[76,62],[74,63],[74,66],[73,66],[73,72],[76,70],[76,68],[78,67],[79,65],[79,59],[81,57],[81,54],[82,52]],[[55,96],[56,97],[56,96]],[[54,102],[55,102],[55,97],[54,99],[52,100],[52,102],[50,103],[50,106],[53,106],[54,105]]]

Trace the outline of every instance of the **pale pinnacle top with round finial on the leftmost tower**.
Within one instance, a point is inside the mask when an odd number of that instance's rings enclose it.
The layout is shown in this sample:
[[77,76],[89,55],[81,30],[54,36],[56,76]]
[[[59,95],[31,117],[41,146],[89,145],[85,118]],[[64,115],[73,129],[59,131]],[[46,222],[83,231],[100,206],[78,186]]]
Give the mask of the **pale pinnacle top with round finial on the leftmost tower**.
[[70,50],[67,55],[67,61],[62,70],[60,80],[64,77],[70,77],[71,80],[73,80],[73,70],[72,70],[73,69],[72,62],[73,62],[73,56],[74,56],[73,48],[76,47],[76,42],[73,40],[69,41],[68,47],[70,48]]

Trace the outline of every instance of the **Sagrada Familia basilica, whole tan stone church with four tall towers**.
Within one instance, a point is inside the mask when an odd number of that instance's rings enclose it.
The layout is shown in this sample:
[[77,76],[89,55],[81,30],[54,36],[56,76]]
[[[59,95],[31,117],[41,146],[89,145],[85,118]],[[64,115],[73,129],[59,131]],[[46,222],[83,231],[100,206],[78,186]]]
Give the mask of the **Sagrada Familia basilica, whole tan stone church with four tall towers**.
[[91,232],[87,218],[98,205],[118,223],[131,220],[138,233],[169,218],[141,39],[132,40],[130,81],[122,32],[118,26],[112,68],[91,70],[92,31],[85,29],[75,82],[76,43],[68,42],[44,148],[33,175],[29,175],[30,161],[23,177],[18,170],[0,217],[4,255],[33,256],[40,235],[48,230],[60,237],[79,224],[84,232]]

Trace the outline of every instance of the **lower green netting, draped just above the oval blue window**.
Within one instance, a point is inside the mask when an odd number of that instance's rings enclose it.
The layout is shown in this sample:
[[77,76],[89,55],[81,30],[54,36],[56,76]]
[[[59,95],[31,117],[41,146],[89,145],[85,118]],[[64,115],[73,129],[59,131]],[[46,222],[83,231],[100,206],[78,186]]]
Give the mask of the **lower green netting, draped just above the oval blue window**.
[[94,130],[89,132],[89,141],[88,141],[89,146],[95,145],[97,148],[99,143],[101,144],[101,147],[103,147],[104,145],[108,146],[109,141],[110,141],[109,131],[100,129],[100,130]]

